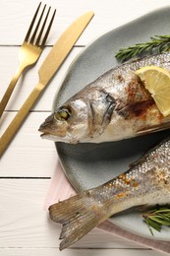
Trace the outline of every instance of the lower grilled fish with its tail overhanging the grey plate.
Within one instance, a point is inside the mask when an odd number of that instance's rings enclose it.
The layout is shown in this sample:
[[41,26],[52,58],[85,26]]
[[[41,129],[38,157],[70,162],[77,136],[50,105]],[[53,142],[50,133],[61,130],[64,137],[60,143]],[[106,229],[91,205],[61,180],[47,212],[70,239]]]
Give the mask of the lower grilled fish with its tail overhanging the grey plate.
[[49,207],[63,225],[60,250],[110,216],[134,206],[170,203],[170,137],[107,183]]

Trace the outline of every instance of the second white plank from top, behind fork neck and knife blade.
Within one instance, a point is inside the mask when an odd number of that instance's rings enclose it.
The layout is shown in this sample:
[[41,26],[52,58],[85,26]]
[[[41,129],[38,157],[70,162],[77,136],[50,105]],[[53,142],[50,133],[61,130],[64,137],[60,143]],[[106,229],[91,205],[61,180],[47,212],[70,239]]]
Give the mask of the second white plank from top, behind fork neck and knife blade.
[[[1,74],[1,90],[0,98],[4,95],[13,75],[18,68],[18,52],[20,47],[0,47],[0,74]],[[45,92],[39,97],[37,103],[33,107],[33,110],[51,111],[54,96],[56,95],[61,81],[63,80],[69,66],[75,57],[83,50],[83,47],[76,47],[69,54],[62,67],[57,71],[53,80],[48,85]],[[37,64],[29,69],[24,76],[18,82],[13,95],[6,107],[7,110],[18,110],[25,102],[26,98],[36,86],[38,82],[38,69],[43,62],[44,58],[48,54],[50,47],[46,47],[40,56]],[[3,61],[2,61],[3,60]],[[4,122],[3,116],[1,122]]]

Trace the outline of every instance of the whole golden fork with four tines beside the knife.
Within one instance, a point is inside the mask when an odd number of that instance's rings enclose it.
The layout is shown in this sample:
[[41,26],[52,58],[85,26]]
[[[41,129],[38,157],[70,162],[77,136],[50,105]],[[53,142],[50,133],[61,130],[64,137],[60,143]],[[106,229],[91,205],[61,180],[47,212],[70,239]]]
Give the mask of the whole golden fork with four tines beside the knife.
[[[41,29],[39,30],[39,25],[41,23],[41,20],[42,20],[42,16],[44,14],[44,11],[45,11],[45,8],[46,8],[46,5],[44,5],[43,7],[43,10],[42,10],[42,13],[38,19],[38,22],[37,22],[37,25],[34,29],[34,32],[31,32],[32,31],[32,28],[34,26],[34,23],[35,23],[35,20],[36,20],[36,17],[37,17],[37,14],[38,14],[38,11],[39,11],[39,8],[40,8],[40,5],[41,3],[39,3],[37,9],[36,9],[36,12],[33,16],[33,19],[30,23],[30,26],[28,28],[28,33],[25,37],[25,40],[20,48],[20,51],[19,51],[19,68],[18,68],[18,71],[17,73],[14,75],[8,89],[6,90],[6,93],[4,94],[4,96],[2,97],[2,100],[0,102],[0,117],[9,101],[9,98],[10,96],[12,95],[14,89],[15,89],[15,86],[20,78],[20,76],[22,75],[22,73],[24,72],[24,70],[28,67],[28,66],[31,66],[33,65],[37,59],[39,58],[43,48],[44,48],[44,45],[45,45],[45,42],[46,42],[46,39],[47,39],[47,36],[50,32],[50,29],[51,29],[51,26],[52,26],[52,23],[53,23],[53,20],[54,20],[54,16],[55,16],[55,12],[56,10],[54,10],[54,13],[52,15],[52,18],[50,20],[50,23],[47,27],[47,30],[45,32],[45,34],[43,35],[43,38],[42,37],[42,33],[44,31],[44,28],[45,28],[45,25],[46,25],[46,22],[47,22],[47,18],[48,18],[48,15],[49,15],[49,12],[50,12],[50,8],[48,9],[47,11],[47,14],[46,14],[46,17],[44,19],[44,22],[42,24],[42,27]],[[36,33],[38,32],[39,30],[39,34],[38,36],[36,37]],[[31,35],[30,35],[31,33]],[[29,38],[30,37],[30,38]],[[35,38],[36,37],[36,38]]]

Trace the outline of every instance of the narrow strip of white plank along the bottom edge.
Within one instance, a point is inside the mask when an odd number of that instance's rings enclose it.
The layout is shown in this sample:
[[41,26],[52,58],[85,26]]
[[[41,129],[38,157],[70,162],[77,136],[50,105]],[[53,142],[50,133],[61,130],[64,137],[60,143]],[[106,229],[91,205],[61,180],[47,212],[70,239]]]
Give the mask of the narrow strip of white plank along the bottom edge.
[[151,251],[151,250],[139,250],[139,249],[66,249],[59,251],[58,248],[5,248],[0,249],[1,256],[68,256],[68,255],[97,255],[97,256],[163,256],[164,254]]

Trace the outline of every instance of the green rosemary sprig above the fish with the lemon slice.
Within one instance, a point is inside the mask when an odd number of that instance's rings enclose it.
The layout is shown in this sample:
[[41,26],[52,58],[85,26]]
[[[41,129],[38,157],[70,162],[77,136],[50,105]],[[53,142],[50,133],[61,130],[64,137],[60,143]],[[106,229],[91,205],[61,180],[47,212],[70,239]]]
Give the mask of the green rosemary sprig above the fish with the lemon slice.
[[154,35],[150,41],[137,43],[133,46],[120,48],[115,57],[124,62],[144,54],[162,53],[170,49],[170,34]]

